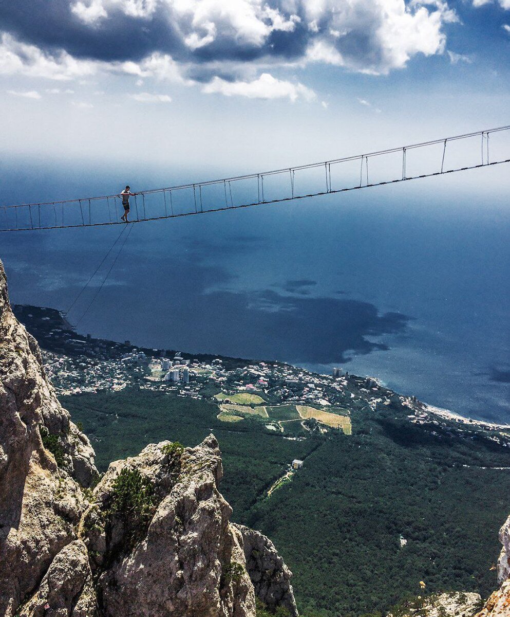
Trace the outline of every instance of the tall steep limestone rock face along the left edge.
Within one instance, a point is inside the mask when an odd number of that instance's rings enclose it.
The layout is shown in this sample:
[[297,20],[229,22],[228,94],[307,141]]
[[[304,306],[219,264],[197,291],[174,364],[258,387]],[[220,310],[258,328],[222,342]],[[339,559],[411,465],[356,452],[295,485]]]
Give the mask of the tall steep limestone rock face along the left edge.
[[74,478],[87,485],[94,476],[94,451],[10,310],[0,263],[0,615],[14,615],[76,539],[84,497]]

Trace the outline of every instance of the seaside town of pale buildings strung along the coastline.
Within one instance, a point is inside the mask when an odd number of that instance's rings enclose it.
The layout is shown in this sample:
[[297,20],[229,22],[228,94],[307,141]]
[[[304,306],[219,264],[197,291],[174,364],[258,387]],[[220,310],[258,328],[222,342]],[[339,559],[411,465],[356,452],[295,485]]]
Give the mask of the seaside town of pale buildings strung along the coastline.
[[[426,405],[416,397],[387,389],[376,378],[350,375],[340,367],[333,368],[331,375],[320,375],[281,362],[136,347],[130,341],[119,343],[79,335],[55,309],[15,305],[14,312],[38,339],[47,376],[59,395],[138,387],[215,400],[222,404],[222,414],[230,415],[230,420],[236,417],[232,413],[239,413],[238,402],[252,406],[296,405],[326,410],[325,415],[331,415],[327,413],[330,409],[344,416],[375,411],[380,405],[394,402],[407,408],[411,423],[438,428],[457,424],[460,430],[465,427],[492,431],[492,439],[508,441],[510,445],[510,426],[471,420]],[[241,396],[245,398],[240,399]],[[314,407],[307,407],[311,405]],[[350,433],[350,421],[349,432],[342,424],[330,426],[340,426]]]

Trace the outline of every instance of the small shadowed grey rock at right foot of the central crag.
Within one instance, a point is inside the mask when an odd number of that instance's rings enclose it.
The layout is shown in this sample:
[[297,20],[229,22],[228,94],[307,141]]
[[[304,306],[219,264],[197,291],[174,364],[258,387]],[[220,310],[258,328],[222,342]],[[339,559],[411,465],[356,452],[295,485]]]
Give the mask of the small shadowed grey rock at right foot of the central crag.
[[291,571],[278,555],[275,545],[259,531],[236,525],[243,536],[246,568],[255,594],[269,610],[283,606],[297,617],[296,601],[290,584]]

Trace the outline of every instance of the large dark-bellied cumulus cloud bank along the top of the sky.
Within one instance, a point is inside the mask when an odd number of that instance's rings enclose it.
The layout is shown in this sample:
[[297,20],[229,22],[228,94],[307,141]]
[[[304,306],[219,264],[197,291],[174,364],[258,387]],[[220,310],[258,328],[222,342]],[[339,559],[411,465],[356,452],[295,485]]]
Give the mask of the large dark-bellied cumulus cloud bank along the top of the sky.
[[442,54],[456,19],[447,0],[17,0],[0,3],[0,73],[106,71],[295,101],[311,91],[268,67],[384,75]]

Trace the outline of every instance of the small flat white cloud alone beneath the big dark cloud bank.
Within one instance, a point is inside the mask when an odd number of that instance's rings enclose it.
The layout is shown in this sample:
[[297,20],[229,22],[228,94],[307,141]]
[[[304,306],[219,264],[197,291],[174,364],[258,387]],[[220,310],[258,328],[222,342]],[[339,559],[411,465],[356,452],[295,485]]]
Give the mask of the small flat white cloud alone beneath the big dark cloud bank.
[[211,83],[203,86],[202,92],[206,94],[220,93],[225,96],[245,96],[249,99],[283,99],[289,98],[296,101],[298,98],[313,101],[315,93],[302,83],[291,83],[279,80],[269,73],[262,75],[253,81],[226,81],[220,77],[214,77]]

